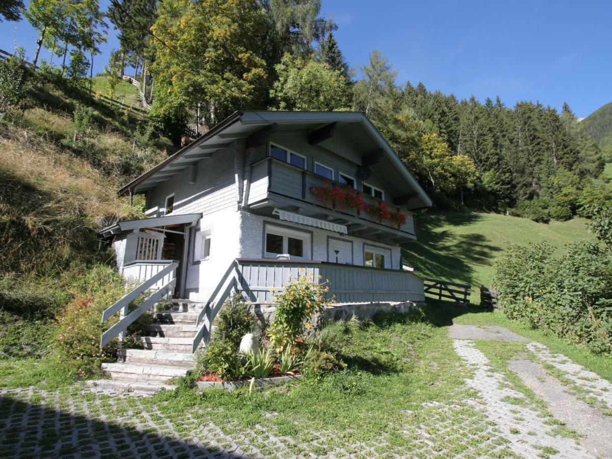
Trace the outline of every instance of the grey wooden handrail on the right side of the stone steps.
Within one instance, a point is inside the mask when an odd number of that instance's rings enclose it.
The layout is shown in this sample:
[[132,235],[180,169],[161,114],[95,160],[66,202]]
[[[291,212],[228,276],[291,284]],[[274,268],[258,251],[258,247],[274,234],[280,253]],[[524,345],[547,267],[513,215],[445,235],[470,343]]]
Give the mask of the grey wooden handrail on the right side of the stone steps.
[[[204,308],[202,308],[198,315],[198,319],[196,320],[198,332],[193,338],[193,353],[198,349],[201,341],[204,341],[205,345],[208,344],[208,341],[211,339],[212,321],[214,321],[215,316],[217,316],[217,313],[232,291],[239,291],[240,279],[241,273],[239,271],[238,262],[233,260],[230,267],[228,267],[220,282],[217,284],[217,287],[206,301],[206,305],[204,305]],[[242,289],[243,288],[240,288],[240,290]]]

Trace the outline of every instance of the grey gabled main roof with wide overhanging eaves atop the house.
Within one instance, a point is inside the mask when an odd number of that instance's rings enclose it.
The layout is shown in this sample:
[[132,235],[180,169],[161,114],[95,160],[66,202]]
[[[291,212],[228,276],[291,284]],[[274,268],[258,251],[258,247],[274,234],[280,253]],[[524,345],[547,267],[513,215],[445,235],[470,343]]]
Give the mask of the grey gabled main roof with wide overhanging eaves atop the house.
[[[382,152],[381,158],[371,169],[395,196],[410,196],[409,206],[412,208],[431,206],[425,190],[381,133],[364,113],[355,111],[236,111],[188,146],[122,187],[119,194],[140,193],[157,187],[188,166],[226,149],[233,141],[248,138],[266,127],[274,126],[278,133],[283,130],[314,132],[330,123],[335,123],[335,132],[343,133],[362,155],[373,151]],[[326,147],[328,142],[323,140],[320,144]]]

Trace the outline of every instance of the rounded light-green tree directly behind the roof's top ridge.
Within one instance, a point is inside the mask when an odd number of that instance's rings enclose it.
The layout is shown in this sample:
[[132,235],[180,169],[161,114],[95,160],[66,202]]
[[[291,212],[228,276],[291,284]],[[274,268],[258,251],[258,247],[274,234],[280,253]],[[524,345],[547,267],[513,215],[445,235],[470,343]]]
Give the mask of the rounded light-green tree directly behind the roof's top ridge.
[[340,70],[322,62],[285,54],[275,65],[278,80],[270,96],[280,110],[338,110],[348,105],[346,80]]

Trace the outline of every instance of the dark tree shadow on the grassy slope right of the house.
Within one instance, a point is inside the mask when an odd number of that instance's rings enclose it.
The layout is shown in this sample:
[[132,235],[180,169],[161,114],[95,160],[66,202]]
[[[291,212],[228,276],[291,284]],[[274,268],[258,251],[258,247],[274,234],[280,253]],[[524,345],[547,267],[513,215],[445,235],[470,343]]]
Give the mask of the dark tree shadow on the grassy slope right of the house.
[[417,219],[417,241],[403,249],[408,264],[441,280],[474,286],[474,264],[486,264],[501,248],[479,233],[437,231],[442,226],[469,226],[482,220],[474,212],[435,212]]

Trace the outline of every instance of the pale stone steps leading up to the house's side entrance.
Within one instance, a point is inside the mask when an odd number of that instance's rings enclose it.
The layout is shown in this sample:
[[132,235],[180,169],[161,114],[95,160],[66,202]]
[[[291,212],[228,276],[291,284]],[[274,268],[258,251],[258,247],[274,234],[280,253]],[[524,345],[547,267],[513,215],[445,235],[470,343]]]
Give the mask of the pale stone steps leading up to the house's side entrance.
[[110,379],[88,381],[100,392],[135,392],[153,394],[161,389],[174,389],[171,378],[187,375],[193,368],[191,352],[198,314],[204,303],[173,300],[173,309],[155,315],[146,326],[147,336],[140,337],[144,349],[118,349],[118,361],[102,364]]

